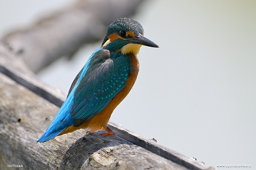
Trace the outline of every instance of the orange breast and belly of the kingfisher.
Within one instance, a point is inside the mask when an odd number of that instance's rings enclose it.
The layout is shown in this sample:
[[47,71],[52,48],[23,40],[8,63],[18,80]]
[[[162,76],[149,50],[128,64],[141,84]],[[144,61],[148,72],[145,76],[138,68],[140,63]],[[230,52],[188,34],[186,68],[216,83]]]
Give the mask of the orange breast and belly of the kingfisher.
[[102,127],[105,129],[108,127],[108,121],[110,119],[111,114],[113,113],[116,106],[119,105],[119,103],[122,102],[122,100],[125,99],[128,93],[131,91],[131,88],[133,87],[139,72],[139,61],[136,54],[128,55],[131,58],[131,65],[133,66],[134,69],[130,70],[130,76],[126,80],[127,82],[125,87],[121,91],[119,91],[118,94],[116,94],[116,96],[108,103],[108,105],[100,113],[96,114],[79,127],[74,127],[73,125],[67,127],[59,135],[70,133],[81,128],[87,129],[89,133],[93,133],[97,130],[100,130]]

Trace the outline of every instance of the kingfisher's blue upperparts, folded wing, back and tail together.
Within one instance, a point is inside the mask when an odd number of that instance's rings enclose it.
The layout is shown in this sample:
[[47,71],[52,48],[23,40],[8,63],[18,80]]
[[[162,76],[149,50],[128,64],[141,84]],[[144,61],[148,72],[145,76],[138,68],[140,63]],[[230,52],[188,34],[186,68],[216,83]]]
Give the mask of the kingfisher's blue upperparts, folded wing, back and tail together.
[[102,111],[124,88],[129,61],[121,52],[97,49],[74,79],[67,99],[38,142],[53,139],[67,127],[79,126]]

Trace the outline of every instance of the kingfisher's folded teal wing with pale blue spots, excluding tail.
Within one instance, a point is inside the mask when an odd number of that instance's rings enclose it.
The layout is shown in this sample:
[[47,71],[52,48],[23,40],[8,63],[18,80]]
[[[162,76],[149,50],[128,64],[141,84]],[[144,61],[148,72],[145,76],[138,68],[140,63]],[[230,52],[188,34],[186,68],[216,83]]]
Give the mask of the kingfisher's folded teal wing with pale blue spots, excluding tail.
[[97,50],[85,65],[86,72],[83,68],[74,80],[70,88],[70,92],[74,90],[70,111],[74,119],[83,122],[90,119],[124,88],[129,77],[130,58],[121,52],[112,54],[103,48]]

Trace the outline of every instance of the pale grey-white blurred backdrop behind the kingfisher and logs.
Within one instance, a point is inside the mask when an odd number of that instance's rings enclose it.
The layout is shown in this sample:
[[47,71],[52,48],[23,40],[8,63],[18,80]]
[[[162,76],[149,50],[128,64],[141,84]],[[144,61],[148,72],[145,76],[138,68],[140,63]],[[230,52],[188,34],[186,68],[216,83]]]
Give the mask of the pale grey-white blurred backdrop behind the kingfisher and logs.
[[[73,2],[1,1],[0,36]],[[160,48],[141,48],[137,81],[110,121],[207,166],[255,167],[256,1],[145,0],[132,18]],[[67,94],[101,43],[38,78]]]

